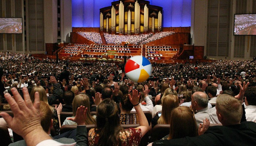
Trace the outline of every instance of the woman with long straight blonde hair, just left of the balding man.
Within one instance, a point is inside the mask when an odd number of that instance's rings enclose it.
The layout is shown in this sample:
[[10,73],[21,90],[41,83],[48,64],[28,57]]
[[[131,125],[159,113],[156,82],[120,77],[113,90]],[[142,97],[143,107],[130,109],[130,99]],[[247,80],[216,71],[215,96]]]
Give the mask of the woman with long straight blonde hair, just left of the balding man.
[[162,98],[162,113],[161,116],[155,115],[151,120],[152,128],[156,124],[170,124],[170,113],[172,110],[179,106],[178,96],[166,95]]

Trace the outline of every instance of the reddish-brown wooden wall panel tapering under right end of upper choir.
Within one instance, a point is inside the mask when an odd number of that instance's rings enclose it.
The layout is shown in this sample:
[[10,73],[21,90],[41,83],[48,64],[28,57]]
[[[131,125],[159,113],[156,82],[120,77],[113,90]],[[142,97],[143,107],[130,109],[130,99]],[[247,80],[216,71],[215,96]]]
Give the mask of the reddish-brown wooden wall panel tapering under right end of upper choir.
[[147,43],[146,45],[159,45],[159,44],[165,44],[165,45],[184,45],[185,43],[189,43],[189,33],[175,33],[173,35],[169,35],[167,37],[152,41]]

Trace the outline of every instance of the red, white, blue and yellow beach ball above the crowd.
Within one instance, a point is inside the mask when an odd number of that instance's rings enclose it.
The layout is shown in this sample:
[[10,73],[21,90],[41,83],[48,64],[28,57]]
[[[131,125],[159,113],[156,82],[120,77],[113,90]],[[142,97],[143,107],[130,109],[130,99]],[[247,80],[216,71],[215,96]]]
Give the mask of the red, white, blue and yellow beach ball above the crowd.
[[126,62],[124,72],[133,82],[143,82],[150,77],[152,66],[146,57],[133,56]]

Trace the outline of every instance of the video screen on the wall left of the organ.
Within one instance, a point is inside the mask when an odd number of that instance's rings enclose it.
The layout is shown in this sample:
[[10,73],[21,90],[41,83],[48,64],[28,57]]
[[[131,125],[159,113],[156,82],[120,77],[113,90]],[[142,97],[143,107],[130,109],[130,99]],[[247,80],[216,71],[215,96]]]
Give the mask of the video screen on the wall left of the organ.
[[22,18],[0,18],[1,34],[22,34]]

